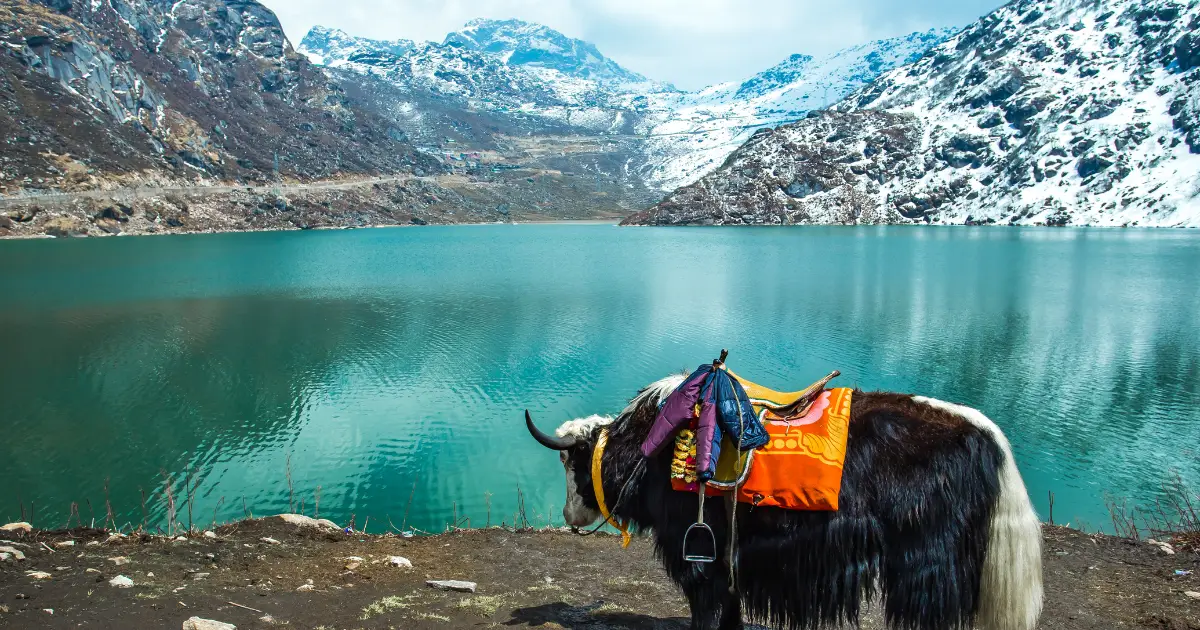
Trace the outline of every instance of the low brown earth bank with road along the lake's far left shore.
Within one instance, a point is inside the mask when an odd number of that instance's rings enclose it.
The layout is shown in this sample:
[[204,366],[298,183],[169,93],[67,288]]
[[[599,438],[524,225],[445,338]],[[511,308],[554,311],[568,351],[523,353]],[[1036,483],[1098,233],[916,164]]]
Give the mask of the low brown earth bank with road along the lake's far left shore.
[[563,173],[505,179],[395,176],[364,182],[78,192],[0,204],[0,238],[191,234],[274,229],[619,220],[618,191]]

